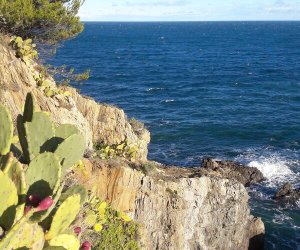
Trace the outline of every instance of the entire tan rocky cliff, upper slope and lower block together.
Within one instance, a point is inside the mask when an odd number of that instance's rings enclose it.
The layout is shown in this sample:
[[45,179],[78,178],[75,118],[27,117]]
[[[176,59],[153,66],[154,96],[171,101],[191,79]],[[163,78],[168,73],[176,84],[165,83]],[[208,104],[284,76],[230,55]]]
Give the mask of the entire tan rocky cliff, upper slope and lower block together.
[[[138,160],[146,160],[147,130],[136,134],[121,109],[96,103],[73,88],[68,88],[72,96],[46,97],[33,79],[37,68],[36,64],[25,65],[14,51],[0,44],[0,102],[13,117],[21,112],[26,93],[32,91],[38,108],[48,111],[55,124],[79,127],[87,149],[95,141],[114,144],[129,140],[138,144]],[[242,178],[245,182],[240,183],[229,174],[232,169],[156,163],[145,175],[134,169],[138,164],[124,159],[85,159],[84,163],[88,174],[70,173],[70,180],[96,186],[100,196],[143,224],[144,249],[259,249],[263,245],[263,223],[250,215],[243,186],[252,181]]]

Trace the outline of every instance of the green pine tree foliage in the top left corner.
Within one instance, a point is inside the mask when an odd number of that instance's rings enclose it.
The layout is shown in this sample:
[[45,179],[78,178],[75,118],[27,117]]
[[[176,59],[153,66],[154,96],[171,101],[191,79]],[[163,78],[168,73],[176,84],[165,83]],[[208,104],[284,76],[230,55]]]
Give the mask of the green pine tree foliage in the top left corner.
[[55,43],[83,30],[77,16],[84,0],[0,0],[1,31]]

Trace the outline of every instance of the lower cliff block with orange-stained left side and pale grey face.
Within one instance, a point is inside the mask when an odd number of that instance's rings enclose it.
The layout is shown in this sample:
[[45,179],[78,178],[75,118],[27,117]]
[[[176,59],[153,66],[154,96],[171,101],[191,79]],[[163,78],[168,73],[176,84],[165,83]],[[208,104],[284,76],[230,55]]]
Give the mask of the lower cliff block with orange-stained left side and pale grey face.
[[[143,225],[143,249],[263,249],[264,225],[245,187],[198,167],[160,167],[150,176],[122,160],[84,160],[78,182]],[[131,167],[130,167],[131,166]],[[204,171],[205,172],[205,171]]]

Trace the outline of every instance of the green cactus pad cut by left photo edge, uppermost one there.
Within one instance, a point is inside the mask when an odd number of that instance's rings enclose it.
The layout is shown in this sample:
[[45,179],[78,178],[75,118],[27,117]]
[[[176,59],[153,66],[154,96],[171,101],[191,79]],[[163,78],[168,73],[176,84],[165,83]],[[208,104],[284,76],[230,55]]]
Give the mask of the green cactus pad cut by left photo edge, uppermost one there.
[[13,136],[13,124],[8,110],[2,104],[0,104],[0,134],[0,154],[3,155],[10,148]]

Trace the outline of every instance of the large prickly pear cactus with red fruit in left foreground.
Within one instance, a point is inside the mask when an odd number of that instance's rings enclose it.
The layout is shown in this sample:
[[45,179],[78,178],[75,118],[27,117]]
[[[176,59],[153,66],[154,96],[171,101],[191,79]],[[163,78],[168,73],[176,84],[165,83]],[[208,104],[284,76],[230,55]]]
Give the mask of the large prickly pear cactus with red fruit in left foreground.
[[84,137],[74,125],[54,129],[47,114],[35,112],[31,93],[23,115],[17,117],[17,130],[23,151],[19,155],[27,165],[9,152],[16,147],[13,126],[0,104],[0,226],[5,230],[0,249],[78,249],[79,241],[68,227],[86,190],[76,185],[61,192],[66,169],[84,152]]

